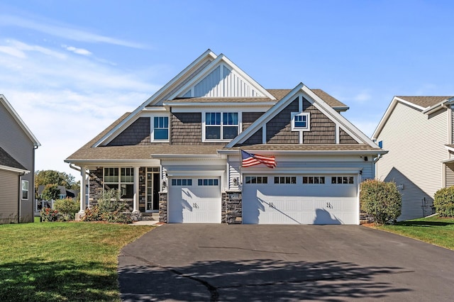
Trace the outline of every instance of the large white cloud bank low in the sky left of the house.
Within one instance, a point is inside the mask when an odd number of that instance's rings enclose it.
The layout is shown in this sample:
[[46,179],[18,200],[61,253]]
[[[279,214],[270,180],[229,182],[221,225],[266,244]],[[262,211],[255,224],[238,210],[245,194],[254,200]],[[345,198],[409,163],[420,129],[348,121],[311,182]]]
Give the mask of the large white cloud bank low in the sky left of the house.
[[0,40],[0,66],[0,94],[41,142],[35,169],[77,177],[63,160],[160,88],[150,84],[150,67],[126,72],[93,56],[17,40]]

